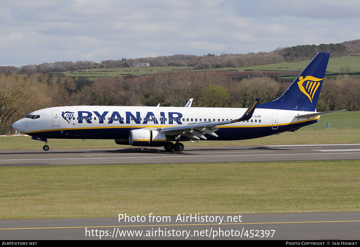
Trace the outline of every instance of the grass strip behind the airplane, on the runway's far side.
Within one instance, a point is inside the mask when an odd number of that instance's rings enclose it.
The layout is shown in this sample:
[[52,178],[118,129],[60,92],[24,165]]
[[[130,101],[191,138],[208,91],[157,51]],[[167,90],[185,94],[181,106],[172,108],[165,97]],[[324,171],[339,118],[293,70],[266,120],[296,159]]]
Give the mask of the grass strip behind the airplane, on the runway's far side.
[[[321,121],[321,119],[320,119]],[[339,120],[337,120],[339,124]],[[320,124],[320,123],[316,123]],[[185,146],[214,146],[214,145],[267,145],[267,144],[316,144],[316,143],[359,143],[360,129],[304,129],[271,135],[262,138],[240,141],[199,141],[183,142]],[[314,125],[311,125],[314,126]],[[330,124],[333,127],[332,124]],[[0,137],[0,149],[41,149],[44,142],[31,140],[29,136]],[[91,140],[85,143],[78,139],[49,139],[50,149],[54,148],[124,148],[127,145],[117,145],[114,140]],[[162,147],[159,147],[162,149]]]

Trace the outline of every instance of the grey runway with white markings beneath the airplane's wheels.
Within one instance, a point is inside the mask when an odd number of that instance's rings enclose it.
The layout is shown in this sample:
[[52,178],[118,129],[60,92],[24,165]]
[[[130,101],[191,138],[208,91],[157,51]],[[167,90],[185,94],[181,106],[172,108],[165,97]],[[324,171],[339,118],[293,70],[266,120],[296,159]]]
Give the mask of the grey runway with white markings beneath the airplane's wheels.
[[359,160],[360,144],[1,150],[0,166]]

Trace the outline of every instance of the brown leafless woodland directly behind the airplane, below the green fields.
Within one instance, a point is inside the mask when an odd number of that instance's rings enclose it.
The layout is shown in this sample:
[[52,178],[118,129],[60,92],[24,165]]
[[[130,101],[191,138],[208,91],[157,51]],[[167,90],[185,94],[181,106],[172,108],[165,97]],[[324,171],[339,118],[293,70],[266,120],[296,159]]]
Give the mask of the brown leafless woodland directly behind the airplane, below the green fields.
[[[148,105],[183,107],[248,107],[278,98],[289,82],[272,77],[235,80],[219,71],[163,72],[153,76],[74,80],[61,74],[0,75],[0,132],[28,113],[63,105]],[[360,78],[325,77],[318,111],[360,110]]]

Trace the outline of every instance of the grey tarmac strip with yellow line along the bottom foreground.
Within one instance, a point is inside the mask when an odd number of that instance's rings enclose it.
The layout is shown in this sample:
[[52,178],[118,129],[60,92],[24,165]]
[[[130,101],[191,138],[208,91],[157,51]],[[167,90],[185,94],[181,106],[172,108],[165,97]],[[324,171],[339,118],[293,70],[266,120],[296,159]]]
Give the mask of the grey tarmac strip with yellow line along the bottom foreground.
[[279,239],[322,240],[323,245],[333,245],[360,238],[360,212],[196,216],[200,222],[189,217],[181,222],[178,216],[149,222],[149,215],[142,218],[144,222],[135,218],[135,222],[119,222],[118,217],[0,220],[0,239]]

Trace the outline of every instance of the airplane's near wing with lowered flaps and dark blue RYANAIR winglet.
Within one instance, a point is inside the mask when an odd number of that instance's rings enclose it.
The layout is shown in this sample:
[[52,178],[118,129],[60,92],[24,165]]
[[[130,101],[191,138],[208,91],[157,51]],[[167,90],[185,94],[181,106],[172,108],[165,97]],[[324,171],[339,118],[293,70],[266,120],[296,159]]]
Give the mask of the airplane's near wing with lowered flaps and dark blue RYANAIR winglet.
[[254,102],[250,105],[250,107],[246,110],[242,117],[235,120],[220,122],[208,121],[201,123],[190,123],[188,125],[171,126],[162,128],[160,132],[165,132],[167,136],[174,136],[176,140],[180,140],[181,136],[190,138],[190,140],[206,140],[204,134],[209,134],[217,137],[218,135],[214,133],[214,131],[219,129],[217,126],[249,120],[252,117],[252,114],[258,102],[259,98],[254,100]]

